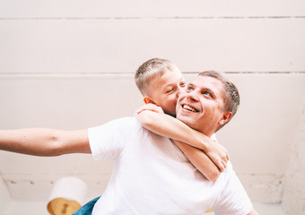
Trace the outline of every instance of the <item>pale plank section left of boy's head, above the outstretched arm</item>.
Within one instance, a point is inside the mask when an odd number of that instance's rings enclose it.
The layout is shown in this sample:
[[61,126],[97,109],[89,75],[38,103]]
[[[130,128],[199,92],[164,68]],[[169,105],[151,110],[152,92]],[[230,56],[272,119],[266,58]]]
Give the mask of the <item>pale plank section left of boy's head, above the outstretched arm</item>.
[[7,129],[84,129],[133,116],[144,104],[133,75],[1,78],[0,98],[0,126]]

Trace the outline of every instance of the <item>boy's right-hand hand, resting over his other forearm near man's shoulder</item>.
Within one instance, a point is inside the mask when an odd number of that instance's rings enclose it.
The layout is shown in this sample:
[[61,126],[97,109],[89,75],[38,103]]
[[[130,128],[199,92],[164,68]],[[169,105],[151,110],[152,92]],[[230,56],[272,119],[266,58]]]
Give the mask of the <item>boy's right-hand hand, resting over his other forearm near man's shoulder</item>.
[[220,143],[211,140],[211,144],[209,144],[205,153],[222,172],[227,168],[229,160],[228,150],[226,150]]

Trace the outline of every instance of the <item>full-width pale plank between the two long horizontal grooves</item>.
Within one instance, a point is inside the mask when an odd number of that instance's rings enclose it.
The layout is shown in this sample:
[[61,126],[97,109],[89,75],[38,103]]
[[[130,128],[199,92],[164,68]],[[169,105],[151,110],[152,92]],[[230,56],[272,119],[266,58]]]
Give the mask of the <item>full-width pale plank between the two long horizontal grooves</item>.
[[184,72],[305,70],[305,19],[0,22],[0,73],[135,73],[169,58]]

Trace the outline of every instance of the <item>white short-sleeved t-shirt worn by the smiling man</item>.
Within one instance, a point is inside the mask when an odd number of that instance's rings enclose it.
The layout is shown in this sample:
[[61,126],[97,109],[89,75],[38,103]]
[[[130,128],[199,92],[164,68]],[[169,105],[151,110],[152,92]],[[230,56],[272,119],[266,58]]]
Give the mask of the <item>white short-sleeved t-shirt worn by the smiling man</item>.
[[92,215],[244,215],[252,204],[231,163],[208,181],[168,138],[144,129],[135,117],[88,130],[94,159],[113,159],[109,185]]

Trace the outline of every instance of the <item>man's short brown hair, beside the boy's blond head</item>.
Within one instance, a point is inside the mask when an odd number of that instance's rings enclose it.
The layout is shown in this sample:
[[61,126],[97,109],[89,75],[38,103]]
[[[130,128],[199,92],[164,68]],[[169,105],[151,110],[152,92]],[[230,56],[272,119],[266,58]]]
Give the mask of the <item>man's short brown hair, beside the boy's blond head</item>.
[[[225,91],[224,110],[230,111],[232,113],[232,117],[233,117],[236,114],[236,112],[240,106],[240,93],[239,93],[239,90],[237,89],[237,87],[235,86],[235,84],[232,83],[231,81],[229,81],[226,77],[224,77],[222,75],[222,73],[218,73],[213,70],[199,73],[199,76],[212,77],[223,83],[223,87],[224,87],[224,91]],[[228,122],[226,122],[225,124],[227,124]],[[223,124],[223,125],[225,125],[225,124]],[[223,125],[221,125],[218,128],[218,130],[221,129]]]

